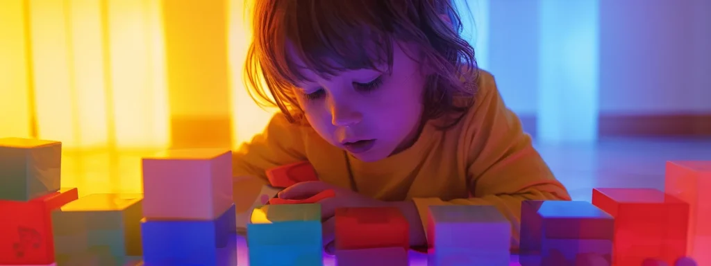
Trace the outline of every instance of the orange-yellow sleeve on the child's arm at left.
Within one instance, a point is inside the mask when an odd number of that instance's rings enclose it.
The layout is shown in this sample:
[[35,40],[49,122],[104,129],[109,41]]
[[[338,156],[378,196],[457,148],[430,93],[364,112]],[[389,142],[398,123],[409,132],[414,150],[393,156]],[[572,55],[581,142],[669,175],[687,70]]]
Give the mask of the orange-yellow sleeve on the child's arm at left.
[[237,231],[245,231],[250,213],[279,192],[269,186],[266,171],[306,160],[303,127],[275,114],[262,133],[232,153],[232,199]]

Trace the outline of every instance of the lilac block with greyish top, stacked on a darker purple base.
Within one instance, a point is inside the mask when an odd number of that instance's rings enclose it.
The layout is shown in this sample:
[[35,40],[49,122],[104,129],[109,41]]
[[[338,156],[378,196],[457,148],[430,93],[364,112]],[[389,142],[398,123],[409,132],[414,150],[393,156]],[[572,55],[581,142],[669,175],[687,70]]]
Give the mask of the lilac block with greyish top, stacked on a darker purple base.
[[509,265],[511,224],[495,206],[429,206],[429,266]]

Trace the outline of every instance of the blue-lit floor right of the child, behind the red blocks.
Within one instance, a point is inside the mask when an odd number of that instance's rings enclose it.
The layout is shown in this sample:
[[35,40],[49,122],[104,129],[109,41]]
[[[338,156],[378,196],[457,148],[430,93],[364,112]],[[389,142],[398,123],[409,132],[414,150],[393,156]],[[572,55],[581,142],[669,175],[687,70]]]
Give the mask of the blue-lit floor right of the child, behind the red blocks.
[[664,189],[665,162],[711,160],[711,139],[617,138],[594,145],[536,145],[573,199],[596,187]]

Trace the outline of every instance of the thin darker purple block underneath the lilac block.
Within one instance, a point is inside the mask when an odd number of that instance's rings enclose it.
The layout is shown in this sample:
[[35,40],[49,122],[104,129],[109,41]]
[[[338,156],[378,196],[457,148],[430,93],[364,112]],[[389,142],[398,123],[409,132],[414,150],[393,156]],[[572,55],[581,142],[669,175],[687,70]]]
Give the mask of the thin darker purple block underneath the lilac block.
[[427,250],[428,266],[508,266],[509,262],[508,249],[497,251],[444,246]]

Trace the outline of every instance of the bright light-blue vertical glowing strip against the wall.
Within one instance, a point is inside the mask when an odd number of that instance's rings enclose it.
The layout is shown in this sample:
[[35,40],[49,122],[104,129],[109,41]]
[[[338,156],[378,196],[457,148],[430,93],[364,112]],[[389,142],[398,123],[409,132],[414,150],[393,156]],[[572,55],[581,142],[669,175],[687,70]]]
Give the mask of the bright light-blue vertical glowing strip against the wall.
[[597,140],[599,1],[540,2],[538,138]]

